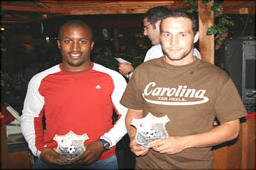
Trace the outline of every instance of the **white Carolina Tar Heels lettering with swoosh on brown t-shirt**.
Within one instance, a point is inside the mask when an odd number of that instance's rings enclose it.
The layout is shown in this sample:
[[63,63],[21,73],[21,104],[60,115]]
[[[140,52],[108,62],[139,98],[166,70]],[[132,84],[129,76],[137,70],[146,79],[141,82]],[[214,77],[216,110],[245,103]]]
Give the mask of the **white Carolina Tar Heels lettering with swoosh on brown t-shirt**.
[[[196,90],[182,85],[179,85],[178,88],[155,86],[155,82],[150,82],[144,88],[142,96],[148,103],[160,105],[196,105],[207,103],[209,100],[208,97],[204,96],[205,90]],[[147,99],[147,96],[157,98],[156,100],[150,100]],[[188,99],[192,99],[192,101],[187,101]]]

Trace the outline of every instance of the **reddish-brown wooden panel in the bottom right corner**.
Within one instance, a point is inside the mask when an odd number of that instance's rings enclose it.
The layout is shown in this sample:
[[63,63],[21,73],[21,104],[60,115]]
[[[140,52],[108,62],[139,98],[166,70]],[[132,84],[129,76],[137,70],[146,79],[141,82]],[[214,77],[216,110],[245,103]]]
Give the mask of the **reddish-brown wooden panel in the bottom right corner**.
[[213,151],[214,169],[255,169],[256,119],[241,124],[240,135]]

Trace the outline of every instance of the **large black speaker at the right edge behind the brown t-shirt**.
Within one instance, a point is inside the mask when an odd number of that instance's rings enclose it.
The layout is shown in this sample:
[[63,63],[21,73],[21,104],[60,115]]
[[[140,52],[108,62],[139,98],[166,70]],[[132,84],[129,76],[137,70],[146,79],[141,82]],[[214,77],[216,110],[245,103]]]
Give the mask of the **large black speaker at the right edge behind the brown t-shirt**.
[[233,79],[249,113],[256,110],[255,47],[255,37],[230,38],[221,54],[221,67]]

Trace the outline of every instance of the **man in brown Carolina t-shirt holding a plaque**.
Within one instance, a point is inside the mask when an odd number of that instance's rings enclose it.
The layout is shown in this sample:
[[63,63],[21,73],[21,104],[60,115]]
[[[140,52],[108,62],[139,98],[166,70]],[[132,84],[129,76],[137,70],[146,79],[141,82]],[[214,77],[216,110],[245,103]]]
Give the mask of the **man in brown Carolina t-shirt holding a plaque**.
[[[191,15],[170,11],[160,31],[164,57],[138,66],[121,100],[129,108],[126,127],[137,155],[135,168],[212,169],[211,147],[238,136],[245,107],[224,71],[193,56],[199,32]],[[166,139],[143,147],[130,123],[148,113],[171,121]],[[215,117],[221,125],[213,128]]]

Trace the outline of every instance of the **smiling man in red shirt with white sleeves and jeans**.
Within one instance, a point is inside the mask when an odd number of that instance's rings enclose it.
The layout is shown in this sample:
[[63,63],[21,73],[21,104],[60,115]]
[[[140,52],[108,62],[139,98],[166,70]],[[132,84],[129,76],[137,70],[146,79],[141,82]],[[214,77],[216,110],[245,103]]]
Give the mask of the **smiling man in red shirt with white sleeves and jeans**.
[[[22,133],[38,156],[34,168],[82,167],[118,169],[115,145],[126,134],[127,108],[119,103],[126,81],[117,71],[90,61],[92,29],[79,20],[61,26],[58,47],[63,62],[28,84]],[[118,119],[113,125],[113,109]],[[43,130],[43,115],[46,130]],[[56,152],[55,135],[87,134],[85,152],[69,162]]]

